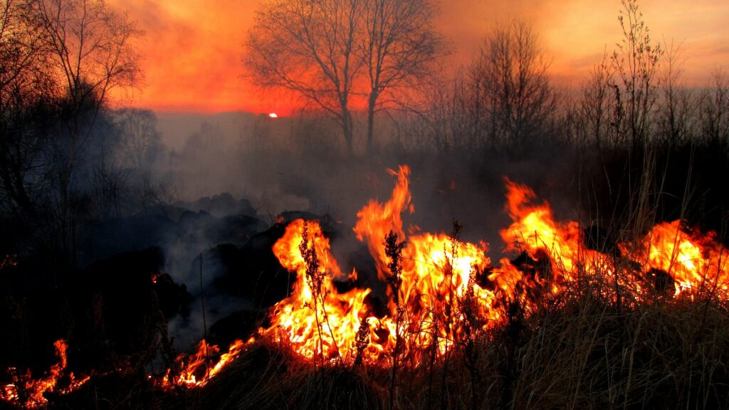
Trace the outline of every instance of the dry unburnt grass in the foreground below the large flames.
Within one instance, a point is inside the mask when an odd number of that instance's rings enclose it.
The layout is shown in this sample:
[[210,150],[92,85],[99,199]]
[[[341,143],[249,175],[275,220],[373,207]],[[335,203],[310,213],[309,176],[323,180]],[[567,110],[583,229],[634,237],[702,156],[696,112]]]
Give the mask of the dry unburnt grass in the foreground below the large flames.
[[[480,333],[474,364],[467,363],[472,357],[464,349],[451,353],[447,367],[443,360],[433,368],[402,363],[394,407],[729,407],[726,299],[682,294],[618,311],[595,282],[589,283],[545,299],[518,323]],[[477,368],[477,382],[467,365]],[[194,407],[383,409],[389,407],[389,376],[390,369],[376,363],[315,372],[285,345],[260,341],[214,379]]]

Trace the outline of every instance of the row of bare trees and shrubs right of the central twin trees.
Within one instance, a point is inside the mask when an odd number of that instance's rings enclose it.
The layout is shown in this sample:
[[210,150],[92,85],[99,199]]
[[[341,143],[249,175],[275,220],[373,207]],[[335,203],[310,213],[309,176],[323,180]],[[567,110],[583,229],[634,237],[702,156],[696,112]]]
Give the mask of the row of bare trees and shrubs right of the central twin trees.
[[714,71],[704,87],[687,86],[679,47],[653,43],[636,3],[625,7],[623,42],[576,90],[552,85],[547,54],[529,24],[496,26],[472,63],[434,85],[405,141],[514,155],[555,144],[602,151],[699,143],[726,150],[725,71]]

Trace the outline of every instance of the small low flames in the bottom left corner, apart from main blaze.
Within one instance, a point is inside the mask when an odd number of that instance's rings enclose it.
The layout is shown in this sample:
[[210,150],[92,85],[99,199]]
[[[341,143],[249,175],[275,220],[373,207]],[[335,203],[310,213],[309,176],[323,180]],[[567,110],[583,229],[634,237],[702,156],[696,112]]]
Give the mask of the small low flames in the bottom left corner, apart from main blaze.
[[[66,349],[68,349],[68,345],[65,340],[58,339],[53,346],[55,347],[55,355],[58,357],[59,362],[51,366],[47,376],[44,376],[42,379],[33,379],[29,370],[26,374],[14,375],[13,383],[6,384],[0,390],[0,399],[2,401],[13,403],[16,406],[21,406],[26,409],[37,409],[48,403],[44,397],[45,392],[58,392],[65,395],[74,390],[78,390],[79,387],[88,381],[89,376],[82,376],[80,379],[76,379],[73,373],[69,373],[64,378],[64,370],[68,364],[66,362]],[[14,369],[10,370],[12,371]],[[65,379],[64,383],[66,387],[59,387],[58,383],[61,379]]]

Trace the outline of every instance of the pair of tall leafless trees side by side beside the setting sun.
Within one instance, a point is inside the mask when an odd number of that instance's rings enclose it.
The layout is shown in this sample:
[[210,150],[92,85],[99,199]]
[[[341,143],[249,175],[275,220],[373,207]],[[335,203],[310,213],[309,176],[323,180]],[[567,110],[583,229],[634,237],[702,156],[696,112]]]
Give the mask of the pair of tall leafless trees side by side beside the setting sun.
[[429,0],[272,0],[243,63],[258,85],[292,90],[336,120],[352,154],[352,107],[367,107],[369,149],[375,113],[432,66],[441,45],[432,15]]

